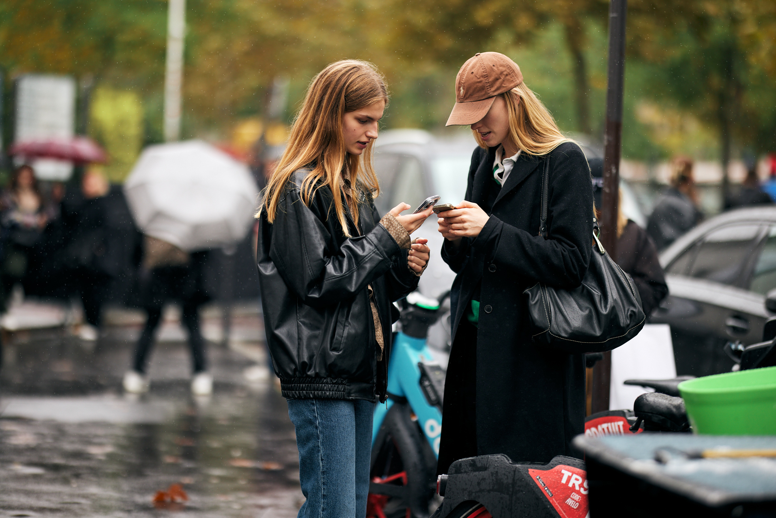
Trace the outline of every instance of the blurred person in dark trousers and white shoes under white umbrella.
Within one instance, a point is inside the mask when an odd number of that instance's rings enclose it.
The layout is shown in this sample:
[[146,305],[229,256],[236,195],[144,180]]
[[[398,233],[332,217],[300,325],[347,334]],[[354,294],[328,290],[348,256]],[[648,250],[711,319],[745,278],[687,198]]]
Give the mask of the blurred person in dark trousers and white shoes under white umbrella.
[[248,167],[227,153],[203,141],[185,141],[146,148],[124,193],[145,236],[140,295],[148,315],[124,388],[147,391],[145,366],[161,309],[165,301],[178,301],[192,350],[192,392],[210,394],[213,378],[206,372],[199,331],[199,306],[208,298],[203,262],[206,250],[235,245],[250,230],[255,181]]

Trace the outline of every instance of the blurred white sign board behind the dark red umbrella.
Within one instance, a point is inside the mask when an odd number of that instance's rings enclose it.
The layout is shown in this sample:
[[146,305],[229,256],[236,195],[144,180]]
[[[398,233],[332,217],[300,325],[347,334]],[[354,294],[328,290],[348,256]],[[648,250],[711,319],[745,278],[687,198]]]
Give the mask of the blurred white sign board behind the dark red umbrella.
[[[75,123],[75,80],[64,75],[23,75],[16,82],[14,141],[71,139]],[[38,158],[32,162],[43,180],[64,181],[73,174],[71,162]]]

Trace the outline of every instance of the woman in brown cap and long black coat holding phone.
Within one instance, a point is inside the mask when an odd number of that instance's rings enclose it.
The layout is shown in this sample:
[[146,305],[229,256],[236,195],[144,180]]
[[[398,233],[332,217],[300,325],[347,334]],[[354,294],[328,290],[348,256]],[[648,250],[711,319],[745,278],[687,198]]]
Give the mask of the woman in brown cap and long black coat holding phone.
[[[584,432],[583,355],[532,342],[523,290],[582,282],[593,239],[590,169],[503,54],[466,61],[456,101],[448,125],[471,124],[480,148],[466,200],[439,214],[442,258],[458,275],[438,472],[475,455],[578,456],[571,440]],[[539,237],[545,160],[547,239]]]

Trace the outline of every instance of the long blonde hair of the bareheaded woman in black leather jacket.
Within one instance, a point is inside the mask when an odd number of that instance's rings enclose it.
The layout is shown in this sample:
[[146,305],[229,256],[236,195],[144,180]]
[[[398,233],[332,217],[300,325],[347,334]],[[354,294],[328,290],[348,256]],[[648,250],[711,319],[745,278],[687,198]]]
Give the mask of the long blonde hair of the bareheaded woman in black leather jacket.
[[[379,185],[372,168],[372,142],[362,155],[348,155],[342,116],[380,100],[387,105],[388,99],[383,75],[367,61],[337,61],[320,71],[310,82],[302,108],[296,114],[288,147],[269,179],[257,217],[266,210],[267,220],[275,221],[278,203],[289,179],[296,170],[310,167],[312,170],[302,183],[303,203],[309,206],[317,189],[327,186],[334,193],[334,211],[349,237],[345,206],[339,196],[343,173],[350,180],[355,203],[362,191],[378,196]],[[358,224],[358,210],[352,217]]]

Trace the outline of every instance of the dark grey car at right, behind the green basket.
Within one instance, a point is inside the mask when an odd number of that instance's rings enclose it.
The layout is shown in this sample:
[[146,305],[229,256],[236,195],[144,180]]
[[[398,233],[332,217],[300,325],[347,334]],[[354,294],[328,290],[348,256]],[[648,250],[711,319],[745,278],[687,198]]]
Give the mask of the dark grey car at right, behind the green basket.
[[670,294],[650,322],[670,325],[677,374],[728,372],[726,342],[760,342],[774,315],[765,304],[776,288],[776,207],[712,217],[670,245],[660,265]]

